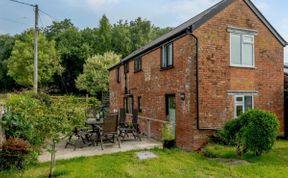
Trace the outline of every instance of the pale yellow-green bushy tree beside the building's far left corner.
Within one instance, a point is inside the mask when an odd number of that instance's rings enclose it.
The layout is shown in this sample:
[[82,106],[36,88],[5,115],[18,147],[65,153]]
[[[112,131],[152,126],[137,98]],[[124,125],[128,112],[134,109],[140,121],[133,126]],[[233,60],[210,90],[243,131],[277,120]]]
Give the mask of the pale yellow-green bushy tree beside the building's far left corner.
[[76,80],[79,90],[85,90],[91,95],[108,90],[108,68],[119,62],[120,55],[107,52],[103,55],[95,55],[84,64],[83,74]]

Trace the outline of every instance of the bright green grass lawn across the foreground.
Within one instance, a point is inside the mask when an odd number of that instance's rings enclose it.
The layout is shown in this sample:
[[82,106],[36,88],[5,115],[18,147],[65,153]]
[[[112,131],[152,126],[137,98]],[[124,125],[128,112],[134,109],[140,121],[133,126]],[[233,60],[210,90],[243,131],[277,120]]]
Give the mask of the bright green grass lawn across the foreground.
[[[210,145],[206,151],[222,158],[235,158],[234,148]],[[138,160],[135,151],[57,161],[57,177],[288,177],[288,141],[277,141],[273,151],[258,158],[243,157],[249,164],[228,166],[200,154],[182,150],[152,150],[159,157]],[[47,177],[49,163],[24,172],[0,172],[0,177]]]

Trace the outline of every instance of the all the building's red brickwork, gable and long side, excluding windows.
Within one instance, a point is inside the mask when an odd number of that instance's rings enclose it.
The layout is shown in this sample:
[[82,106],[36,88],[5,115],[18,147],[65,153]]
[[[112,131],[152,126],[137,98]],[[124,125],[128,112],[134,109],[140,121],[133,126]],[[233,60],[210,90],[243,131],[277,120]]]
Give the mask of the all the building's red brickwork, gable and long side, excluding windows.
[[[230,66],[230,33],[228,26],[257,30],[255,68]],[[223,11],[193,32],[199,39],[200,127],[221,128],[233,118],[234,98],[230,90],[257,91],[254,107],[277,114],[284,132],[283,113],[283,47],[243,0],[235,0]],[[165,94],[176,95],[176,140],[184,149],[199,149],[213,131],[197,129],[195,40],[187,35],[174,42],[174,68],[160,71],[160,49],[142,57],[142,71],[134,73],[129,62],[128,86],[134,95],[142,96],[143,112],[139,115],[165,120]],[[121,84],[116,72],[110,72],[111,109],[123,107],[124,71]],[[180,99],[185,93],[185,100]],[[145,128],[145,124],[141,124]],[[161,124],[152,124],[152,134],[161,138]]]

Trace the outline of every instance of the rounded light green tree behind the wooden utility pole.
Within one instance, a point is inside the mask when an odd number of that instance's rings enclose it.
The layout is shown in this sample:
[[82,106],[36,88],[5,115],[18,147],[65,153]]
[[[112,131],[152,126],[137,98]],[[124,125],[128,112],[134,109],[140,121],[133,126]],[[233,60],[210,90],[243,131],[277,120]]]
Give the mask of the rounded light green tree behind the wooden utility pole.
[[[16,40],[10,58],[7,61],[8,75],[19,85],[33,84],[34,37],[33,30],[24,32]],[[39,83],[51,81],[54,74],[61,74],[63,68],[55,49],[55,42],[48,41],[39,33],[38,37],[38,75]]]

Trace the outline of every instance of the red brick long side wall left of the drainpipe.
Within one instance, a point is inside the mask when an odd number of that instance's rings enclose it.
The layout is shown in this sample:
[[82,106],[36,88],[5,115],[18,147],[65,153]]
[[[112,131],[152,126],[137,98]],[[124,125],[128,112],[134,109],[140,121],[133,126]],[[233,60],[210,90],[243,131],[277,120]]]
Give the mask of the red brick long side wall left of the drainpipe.
[[[174,68],[160,70],[161,50],[158,48],[142,57],[142,71],[134,73],[134,61],[129,62],[129,73],[127,75],[128,88],[134,96],[134,108],[137,108],[137,98],[142,97],[142,113],[140,116],[153,119],[166,120],[165,95],[175,94],[176,96],[176,117],[177,117],[177,145],[191,149],[192,140],[192,113],[195,108],[192,102],[191,69],[195,61],[195,41],[190,36],[185,36],[173,43],[174,46]],[[123,107],[124,76],[121,66],[121,84],[116,82],[116,69],[110,72],[110,96],[111,110]],[[194,87],[195,88],[195,87]],[[119,92],[121,91],[121,92]],[[195,91],[195,90],[193,90]],[[180,99],[180,93],[185,93],[185,101]],[[141,120],[140,120],[141,121]],[[147,126],[141,122],[142,130]],[[152,122],[152,136],[161,139],[162,124]],[[185,135],[185,136],[183,136]]]

